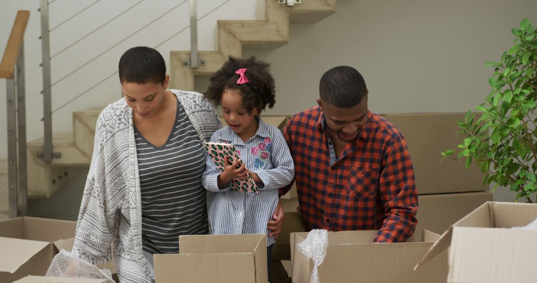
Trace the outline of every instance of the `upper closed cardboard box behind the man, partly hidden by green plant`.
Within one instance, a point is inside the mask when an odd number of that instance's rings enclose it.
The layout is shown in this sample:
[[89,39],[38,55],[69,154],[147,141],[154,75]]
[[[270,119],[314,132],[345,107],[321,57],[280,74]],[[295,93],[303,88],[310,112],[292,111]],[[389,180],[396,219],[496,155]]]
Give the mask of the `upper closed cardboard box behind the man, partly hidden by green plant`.
[[477,166],[466,169],[463,162],[442,159],[440,152],[457,148],[464,137],[457,120],[466,113],[423,113],[383,115],[400,130],[407,140],[416,186],[420,195],[430,193],[468,192],[489,190],[483,186],[484,174]]

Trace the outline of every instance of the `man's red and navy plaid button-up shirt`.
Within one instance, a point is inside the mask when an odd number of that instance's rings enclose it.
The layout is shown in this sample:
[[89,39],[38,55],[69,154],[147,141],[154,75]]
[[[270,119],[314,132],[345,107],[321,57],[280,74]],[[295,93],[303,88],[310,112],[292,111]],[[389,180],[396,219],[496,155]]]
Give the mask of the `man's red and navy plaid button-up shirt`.
[[284,137],[302,217],[309,229],[379,230],[375,242],[403,242],[414,233],[418,208],[407,143],[383,117],[371,111],[367,117],[357,140],[347,143],[332,166],[319,107],[287,123]]

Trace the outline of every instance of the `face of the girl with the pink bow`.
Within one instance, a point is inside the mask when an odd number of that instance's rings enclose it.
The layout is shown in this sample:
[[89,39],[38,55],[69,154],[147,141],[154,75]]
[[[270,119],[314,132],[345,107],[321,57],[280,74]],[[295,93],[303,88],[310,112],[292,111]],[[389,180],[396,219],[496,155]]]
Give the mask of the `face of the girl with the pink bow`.
[[258,115],[257,109],[253,109],[251,114],[248,114],[242,103],[242,95],[238,90],[224,90],[222,94],[222,110],[224,120],[229,128],[237,134],[245,131],[257,130],[257,121],[255,116]]

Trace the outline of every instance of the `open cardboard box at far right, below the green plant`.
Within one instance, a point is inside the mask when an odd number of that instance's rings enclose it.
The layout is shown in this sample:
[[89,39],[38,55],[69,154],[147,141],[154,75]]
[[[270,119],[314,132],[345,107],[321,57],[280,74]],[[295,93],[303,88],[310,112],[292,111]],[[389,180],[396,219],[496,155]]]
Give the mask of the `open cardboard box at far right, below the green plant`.
[[416,266],[426,268],[449,249],[448,282],[535,282],[537,204],[487,202],[457,221]]

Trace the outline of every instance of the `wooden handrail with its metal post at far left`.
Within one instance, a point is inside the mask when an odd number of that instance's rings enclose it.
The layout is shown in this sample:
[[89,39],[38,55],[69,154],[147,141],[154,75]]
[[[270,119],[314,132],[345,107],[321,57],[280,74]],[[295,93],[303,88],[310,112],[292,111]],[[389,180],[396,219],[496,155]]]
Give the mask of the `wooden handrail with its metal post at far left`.
[[0,78],[6,79],[8,121],[9,217],[26,215],[26,102],[24,79],[24,33],[30,11],[18,11],[2,62]]

